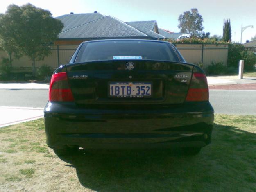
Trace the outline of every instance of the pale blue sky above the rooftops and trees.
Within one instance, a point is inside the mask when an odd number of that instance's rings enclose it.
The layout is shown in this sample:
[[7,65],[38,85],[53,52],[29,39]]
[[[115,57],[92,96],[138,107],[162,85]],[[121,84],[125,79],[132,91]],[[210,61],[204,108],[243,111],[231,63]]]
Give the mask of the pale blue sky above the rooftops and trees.
[[98,11],[124,22],[156,20],[158,27],[179,32],[179,15],[191,8],[197,8],[204,20],[204,32],[221,35],[223,20],[231,20],[232,41],[240,42],[241,26],[253,25],[242,33],[242,43],[256,34],[256,0],[2,0],[0,13],[9,4],[31,3],[48,9],[52,16],[73,13],[93,13]]

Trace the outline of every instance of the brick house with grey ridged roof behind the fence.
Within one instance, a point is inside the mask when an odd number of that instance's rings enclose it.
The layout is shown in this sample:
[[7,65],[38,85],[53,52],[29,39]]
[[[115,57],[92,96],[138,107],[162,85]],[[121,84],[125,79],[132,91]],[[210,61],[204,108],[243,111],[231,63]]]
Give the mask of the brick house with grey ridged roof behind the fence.
[[165,38],[159,34],[156,21],[123,22],[112,16],[100,13],[66,14],[57,19],[61,20],[64,28],[59,33],[55,45],[78,45],[82,41],[111,39],[111,38],[136,38],[155,39]]

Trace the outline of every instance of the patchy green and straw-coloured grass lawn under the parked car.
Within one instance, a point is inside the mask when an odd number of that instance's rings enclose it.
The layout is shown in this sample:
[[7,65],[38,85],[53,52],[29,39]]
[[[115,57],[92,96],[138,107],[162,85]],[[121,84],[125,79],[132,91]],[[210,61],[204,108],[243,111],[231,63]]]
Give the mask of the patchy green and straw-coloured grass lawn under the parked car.
[[0,129],[0,191],[255,191],[256,116],[216,115],[197,156],[83,150],[57,157],[43,119]]

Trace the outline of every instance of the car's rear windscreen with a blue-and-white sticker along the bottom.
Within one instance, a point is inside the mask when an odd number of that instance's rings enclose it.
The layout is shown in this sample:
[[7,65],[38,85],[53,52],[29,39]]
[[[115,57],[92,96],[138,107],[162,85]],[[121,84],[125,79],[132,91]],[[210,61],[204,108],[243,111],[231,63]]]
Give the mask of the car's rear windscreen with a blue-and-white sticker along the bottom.
[[84,43],[76,63],[115,59],[150,59],[179,62],[169,43],[150,41],[99,41]]

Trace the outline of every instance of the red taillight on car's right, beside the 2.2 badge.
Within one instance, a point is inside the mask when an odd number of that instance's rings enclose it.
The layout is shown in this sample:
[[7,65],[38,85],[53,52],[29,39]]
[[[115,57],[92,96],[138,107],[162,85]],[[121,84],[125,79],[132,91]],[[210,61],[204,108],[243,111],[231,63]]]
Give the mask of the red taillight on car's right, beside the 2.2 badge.
[[204,73],[193,73],[186,101],[209,101],[209,89]]

